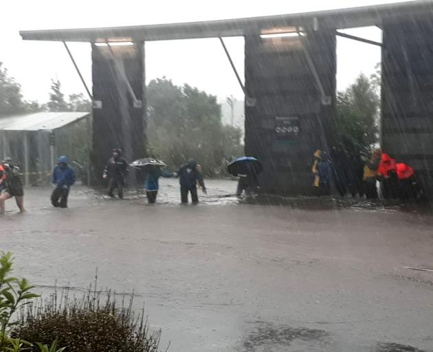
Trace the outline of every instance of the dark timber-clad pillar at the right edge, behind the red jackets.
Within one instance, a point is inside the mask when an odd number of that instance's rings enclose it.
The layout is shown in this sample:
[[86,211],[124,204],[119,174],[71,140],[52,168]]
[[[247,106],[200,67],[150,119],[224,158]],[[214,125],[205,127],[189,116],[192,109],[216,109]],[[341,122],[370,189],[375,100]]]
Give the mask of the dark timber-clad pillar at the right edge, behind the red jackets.
[[433,21],[384,23],[381,144],[406,162],[428,195],[433,182]]

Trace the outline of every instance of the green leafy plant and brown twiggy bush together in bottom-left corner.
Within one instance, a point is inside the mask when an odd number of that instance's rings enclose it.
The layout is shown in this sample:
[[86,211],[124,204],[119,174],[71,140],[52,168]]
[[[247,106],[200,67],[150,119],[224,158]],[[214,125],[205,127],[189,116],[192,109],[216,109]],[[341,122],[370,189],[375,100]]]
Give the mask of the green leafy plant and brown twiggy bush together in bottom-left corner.
[[44,302],[11,272],[12,254],[0,252],[0,352],[157,352],[160,331],[149,333],[133,297],[119,307],[115,294],[89,287],[81,299],[65,289]]

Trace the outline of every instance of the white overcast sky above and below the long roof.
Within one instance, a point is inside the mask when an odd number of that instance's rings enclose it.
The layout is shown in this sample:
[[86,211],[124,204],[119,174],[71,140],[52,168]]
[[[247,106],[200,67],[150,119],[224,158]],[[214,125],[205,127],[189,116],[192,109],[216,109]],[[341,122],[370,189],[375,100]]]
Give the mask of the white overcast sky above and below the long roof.
[[[0,61],[23,87],[26,99],[45,102],[51,78],[58,77],[65,94],[85,93],[62,43],[22,41],[19,30],[89,28],[206,21],[271,14],[331,10],[387,0],[1,0]],[[67,5],[73,3],[74,5]],[[377,28],[346,31],[381,41]],[[243,39],[225,40],[243,77]],[[91,50],[88,43],[71,43],[71,51],[91,86]],[[347,87],[355,77],[370,74],[380,61],[380,48],[348,39],[337,39],[337,85]],[[166,76],[177,84],[188,83],[220,98],[242,91],[217,39],[146,43],[146,81]]]

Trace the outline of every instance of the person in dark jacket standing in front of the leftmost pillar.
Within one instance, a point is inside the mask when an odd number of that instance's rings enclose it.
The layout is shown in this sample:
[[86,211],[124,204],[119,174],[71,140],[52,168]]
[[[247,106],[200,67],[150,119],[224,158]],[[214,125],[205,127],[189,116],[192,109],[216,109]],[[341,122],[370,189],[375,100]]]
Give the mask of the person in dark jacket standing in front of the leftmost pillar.
[[122,149],[113,149],[113,157],[109,159],[102,175],[104,179],[109,180],[108,195],[110,197],[115,197],[113,190],[118,188],[119,198],[123,199],[126,173],[128,173],[128,162],[122,157]]

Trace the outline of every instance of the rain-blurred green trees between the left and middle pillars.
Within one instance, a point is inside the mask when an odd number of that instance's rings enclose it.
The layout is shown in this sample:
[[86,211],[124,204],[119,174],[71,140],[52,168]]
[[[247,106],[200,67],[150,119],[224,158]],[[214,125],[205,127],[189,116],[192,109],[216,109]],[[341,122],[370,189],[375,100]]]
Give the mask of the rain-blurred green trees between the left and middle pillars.
[[169,168],[192,157],[202,165],[203,173],[215,175],[224,160],[243,153],[241,130],[223,126],[215,96],[158,78],[149,83],[147,99],[149,149]]

